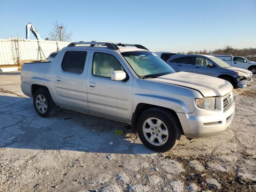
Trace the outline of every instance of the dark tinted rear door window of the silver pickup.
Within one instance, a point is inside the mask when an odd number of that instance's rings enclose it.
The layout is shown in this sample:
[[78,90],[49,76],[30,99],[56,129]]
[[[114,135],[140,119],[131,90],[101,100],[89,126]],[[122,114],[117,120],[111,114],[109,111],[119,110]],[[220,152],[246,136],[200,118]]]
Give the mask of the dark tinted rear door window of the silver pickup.
[[81,74],[84,71],[86,51],[67,51],[62,60],[62,69],[70,73]]

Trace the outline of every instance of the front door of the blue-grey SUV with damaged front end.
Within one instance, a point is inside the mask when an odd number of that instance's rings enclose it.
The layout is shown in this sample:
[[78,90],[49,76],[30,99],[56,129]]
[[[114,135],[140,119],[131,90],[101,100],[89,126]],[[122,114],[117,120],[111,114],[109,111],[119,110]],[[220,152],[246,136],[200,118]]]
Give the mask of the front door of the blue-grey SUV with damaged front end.
[[[194,73],[216,76],[216,67],[208,67],[208,64],[213,64],[210,60],[203,57],[195,57]],[[214,64],[213,64],[214,65]]]

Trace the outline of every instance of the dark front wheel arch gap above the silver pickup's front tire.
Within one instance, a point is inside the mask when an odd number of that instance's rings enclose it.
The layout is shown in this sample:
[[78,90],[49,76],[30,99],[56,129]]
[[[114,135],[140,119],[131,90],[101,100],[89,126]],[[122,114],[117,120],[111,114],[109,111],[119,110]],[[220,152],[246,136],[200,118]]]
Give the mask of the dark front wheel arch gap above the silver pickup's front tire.
[[[166,107],[162,107],[162,106],[157,106],[157,105],[153,105],[153,104],[147,104],[147,103],[139,103],[136,106],[136,109],[134,111],[134,113],[132,114],[132,132],[136,132],[137,131],[137,122],[138,122],[138,118],[140,117],[140,114],[142,114],[144,111],[150,109],[150,108],[163,108],[168,110],[168,112],[172,113],[174,116],[177,117],[178,122],[180,123],[180,119],[178,118],[178,115],[176,114],[176,112],[170,108],[166,108]],[[183,134],[183,130],[181,128],[180,132]]]

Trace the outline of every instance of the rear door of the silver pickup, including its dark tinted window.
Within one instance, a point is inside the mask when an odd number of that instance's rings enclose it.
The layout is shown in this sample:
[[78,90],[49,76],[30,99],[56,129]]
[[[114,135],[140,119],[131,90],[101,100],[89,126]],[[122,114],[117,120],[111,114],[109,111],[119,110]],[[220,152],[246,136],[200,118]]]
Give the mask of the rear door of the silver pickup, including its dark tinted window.
[[88,112],[86,74],[90,50],[64,50],[54,72],[58,105]]

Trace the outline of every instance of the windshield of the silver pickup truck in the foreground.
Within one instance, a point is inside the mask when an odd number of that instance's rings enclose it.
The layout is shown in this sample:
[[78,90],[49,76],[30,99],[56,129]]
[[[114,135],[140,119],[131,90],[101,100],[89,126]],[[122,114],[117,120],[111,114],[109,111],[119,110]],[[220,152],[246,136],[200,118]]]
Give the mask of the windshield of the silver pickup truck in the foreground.
[[142,79],[156,78],[162,75],[175,73],[174,69],[156,54],[148,51],[123,52],[122,56],[132,70]]

